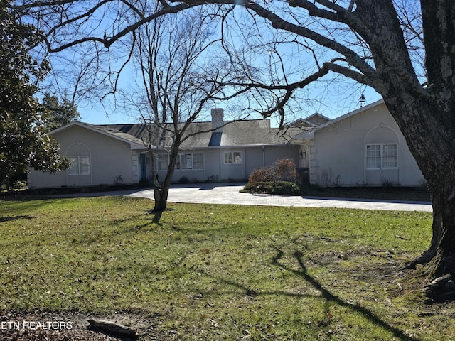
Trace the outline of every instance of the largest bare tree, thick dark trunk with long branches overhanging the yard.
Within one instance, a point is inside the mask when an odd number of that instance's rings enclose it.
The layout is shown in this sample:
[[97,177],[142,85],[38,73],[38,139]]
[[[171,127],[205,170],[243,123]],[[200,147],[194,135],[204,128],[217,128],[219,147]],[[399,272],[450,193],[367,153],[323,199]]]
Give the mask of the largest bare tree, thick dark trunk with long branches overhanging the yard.
[[[426,264],[432,277],[455,275],[452,0],[161,0],[157,11],[141,11],[136,1],[127,0],[29,1],[12,1],[6,6],[30,20],[36,18],[48,50],[54,52],[90,44],[112,50],[144,23],[198,6],[220,15],[223,32],[237,30],[233,37],[245,42],[234,48],[224,40],[232,63],[242,65],[237,69],[242,73],[231,85],[236,94],[250,92],[265,116],[274,112],[284,116],[296,92],[333,75],[372,87],[400,126],[432,192],[432,242],[410,266]],[[105,16],[108,11],[117,14]],[[120,18],[130,13],[135,13],[137,20],[122,23]],[[105,19],[104,30],[93,26],[100,16]],[[64,36],[68,32],[72,35]],[[292,72],[282,67],[281,77],[267,80],[266,72],[250,63],[251,53],[272,46],[276,38],[296,48],[299,54],[293,60],[298,69]],[[301,63],[300,53],[310,55],[313,62]]]

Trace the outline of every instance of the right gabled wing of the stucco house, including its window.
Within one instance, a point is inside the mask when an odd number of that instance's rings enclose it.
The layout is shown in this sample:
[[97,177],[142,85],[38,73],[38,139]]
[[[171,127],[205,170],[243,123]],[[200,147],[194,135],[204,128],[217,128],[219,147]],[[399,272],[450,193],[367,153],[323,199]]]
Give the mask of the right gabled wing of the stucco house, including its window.
[[402,185],[425,183],[405,137],[382,99],[294,136],[319,185]]

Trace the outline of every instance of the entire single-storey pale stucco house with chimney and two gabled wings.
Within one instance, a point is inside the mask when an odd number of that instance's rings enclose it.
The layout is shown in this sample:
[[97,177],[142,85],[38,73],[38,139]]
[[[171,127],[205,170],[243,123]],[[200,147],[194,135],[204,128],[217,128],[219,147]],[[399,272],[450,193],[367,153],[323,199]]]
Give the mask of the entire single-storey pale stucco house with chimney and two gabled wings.
[[[166,128],[166,127],[165,127]],[[156,129],[151,144],[159,178],[168,165],[171,135]],[[336,119],[314,114],[280,130],[267,119],[195,122],[182,144],[174,182],[245,180],[262,166],[291,158],[301,180],[319,185],[414,186],[424,182],[404,137],[381,101]],[[132,184],[150,178],[151,155],[144,124],[73,122],[50,133],[70,168],[55,174],[31,169],[29,188]]]

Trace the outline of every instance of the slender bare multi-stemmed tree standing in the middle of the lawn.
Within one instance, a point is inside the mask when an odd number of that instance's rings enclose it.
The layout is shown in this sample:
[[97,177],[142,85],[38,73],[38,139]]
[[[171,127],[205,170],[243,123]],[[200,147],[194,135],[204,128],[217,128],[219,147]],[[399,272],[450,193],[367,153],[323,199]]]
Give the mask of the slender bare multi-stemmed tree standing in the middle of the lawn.
[[[146,6],[144,1],[144,9]],[[144,23],[134,33],[139,92],[137,96],[127,93],[124,100],[130,99],[130,104],[137,106],[146,126],[143,141],[151,156],[156,212],[166,209],[181,145],[191,136],[210,131],[193,131],[191,124],[201,118],[209,104],[213,105],[213,98],[223,89],[223,82],[218,80],[225,65],[207,53],[217,43],[213,26],[213,18],[193,9]],[[164,180],[159,182],[156,154],[163,152],[167,153],[168,166]]]

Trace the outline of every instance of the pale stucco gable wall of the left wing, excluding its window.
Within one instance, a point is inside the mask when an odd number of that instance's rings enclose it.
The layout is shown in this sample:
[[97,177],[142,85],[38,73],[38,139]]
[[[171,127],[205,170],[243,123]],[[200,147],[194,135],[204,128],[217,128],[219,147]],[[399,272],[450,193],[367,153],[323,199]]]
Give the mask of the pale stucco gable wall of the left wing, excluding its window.
[[90,174],[70,175],[68,170],[48,174],[32,169],[28,175],[30,188],[138,182],[137,155],[129,144],[81,126],[59,131],[54,138],[63,156],[89,156]]

